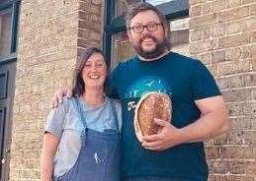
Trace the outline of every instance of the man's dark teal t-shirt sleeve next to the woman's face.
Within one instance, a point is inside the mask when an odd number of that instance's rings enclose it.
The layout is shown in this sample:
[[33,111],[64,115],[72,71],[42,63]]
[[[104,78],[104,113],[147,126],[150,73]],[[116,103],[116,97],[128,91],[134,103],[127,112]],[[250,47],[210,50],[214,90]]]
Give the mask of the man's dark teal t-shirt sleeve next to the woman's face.
[[120,77],[120,65],[118,65],[111,73],[110,79],[108,81],[108,96],[110,98],[119,99],[119,93],[117,85],[119,85]]

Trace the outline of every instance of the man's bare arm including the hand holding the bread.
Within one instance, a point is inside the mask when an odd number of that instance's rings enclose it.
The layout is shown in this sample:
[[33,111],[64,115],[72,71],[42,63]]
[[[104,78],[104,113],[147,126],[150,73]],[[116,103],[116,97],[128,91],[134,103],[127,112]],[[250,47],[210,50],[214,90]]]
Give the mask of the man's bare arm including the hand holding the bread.
[[163,151],[180,144],[204,142],[228,130],[229,119],[222,96],[196,100],[196,104],[202,113],[198,120],[180,129],[165,121],[155,120],[163,128],[156,135],[143,137],[142,147]]

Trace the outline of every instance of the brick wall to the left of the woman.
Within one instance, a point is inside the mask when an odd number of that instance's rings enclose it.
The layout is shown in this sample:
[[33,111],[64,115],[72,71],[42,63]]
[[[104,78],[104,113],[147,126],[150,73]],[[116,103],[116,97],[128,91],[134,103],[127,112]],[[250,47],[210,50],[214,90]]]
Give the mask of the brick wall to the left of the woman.
[[101,12],[102,0],[22,1],[10,180],[40,180],[50,98],[71,85],[79,47],[100,46]]

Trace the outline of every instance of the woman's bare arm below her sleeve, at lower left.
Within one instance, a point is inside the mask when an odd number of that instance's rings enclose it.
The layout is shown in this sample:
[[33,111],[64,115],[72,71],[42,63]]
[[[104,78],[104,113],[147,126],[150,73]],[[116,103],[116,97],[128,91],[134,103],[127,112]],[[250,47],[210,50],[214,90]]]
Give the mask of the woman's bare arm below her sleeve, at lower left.
[[53,158],[57,150],[59,138],[51,133],[43,135],[43,151],[41,154],[41,180],[51,181],[53,171]]

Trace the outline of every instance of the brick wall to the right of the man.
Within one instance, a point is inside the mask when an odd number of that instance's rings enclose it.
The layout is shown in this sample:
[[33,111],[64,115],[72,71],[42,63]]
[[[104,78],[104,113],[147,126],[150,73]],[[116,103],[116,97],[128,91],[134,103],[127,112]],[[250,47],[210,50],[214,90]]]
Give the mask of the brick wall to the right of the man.
[[190,53],[212,71],[231,130],[207,143],[210,181],[256,180],[256,1],[190,0]]

